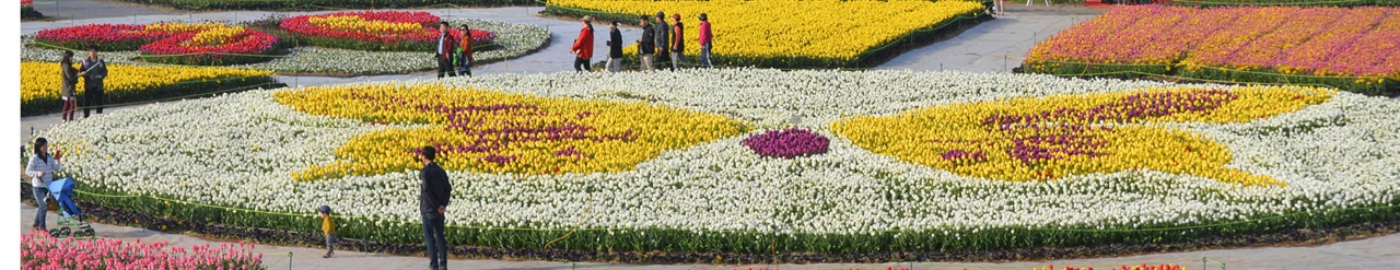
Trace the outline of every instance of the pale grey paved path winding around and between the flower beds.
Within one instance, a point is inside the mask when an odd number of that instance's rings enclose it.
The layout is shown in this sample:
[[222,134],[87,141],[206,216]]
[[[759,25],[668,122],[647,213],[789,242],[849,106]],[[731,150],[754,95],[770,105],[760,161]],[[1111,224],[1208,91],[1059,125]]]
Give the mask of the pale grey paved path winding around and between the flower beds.
[[[269,11],[224,11],[199,14],[174,14],[167,10],[146,8],[125,3],[94,1],[94,0],[63,0],[56,1],[83,7],[64,7],[59,13],[60,20],[29,21],[21,24],[21,34],[29,35],[45,28],[69,27],[77,24],[112,22],[112,24],[148,24],[171,20],[214,20],[214,21],[248,21],[265,18],[274,14],[302,14],[302,13],[269,13]],[[52,15],[42,4],[39,11]],[[468,10],[427,10],[444,18],[482,18],[507,22],[524,22],[546,25],[553,34],[552,42],[540,52],[511,59],[501,63],[483,64],[473,70],[476,74],[500,73],[556,73],[570,71],[573,56],[567,53],[568,42],[578,31],[577,21],[538,17],[542,7],[503,7],[503,8],[468,8]],[[74,17],[66,17],[62,13]],[[1008,15],[976,25],[966,32],[924,48],[906,52],[876,69],[909,69],[909,70],[969,70],[969,71],[1009,71],[1019,63],[1025,52],[1036,42],[1049,35],[1074,25],[1078,21],[1091,18],[1099,10],[1056,6],[1056,7],[1025,7],[1012,3]],[[95,17],[95,18],[94,18]],[[598,24],[602,31],[606,28]],[[623,39],[634,41],[636,28],[624,28]],[[595,52],[606,52],[602,42],[596,42]],[[602,56],[595,57],[601,60]],[[283,83],[288,85],[323,85],[358,81],[384,81],[433,77],[431,73],[365,76],[365,77],[300,77],[284,76]],[[112,108],[108,111],[122,111],[127,108]],[[29,140],[29,132],[43,130],[59,123],[59,115],[43,115],[21,118],[21,143]],[[29,224],[34,218],[35,207],[21,203],[21,222]],[[53,224],[53,218],[49,221]],[[53,225],[50,225],[53,227]],[[174,246],[200,245],[209,241],[172,235],[155,231],[146,231],[130,227],[116,227],[95,224],[102,236],[120,239],[168,241]],[[20,232],[27,232],[25,225]],[[1254,249],[1226,249],[1204,252],[1161,253],[1106,259],[1082,260],[1051,260],[1051,262],[1021,262],[1021,263],[889,263],[889,264],[783,264],[778,269],[1032,269],[1046,264],[1058,266],[1093,266],[1100,269],[1117,267],[1120,264],[1137,263],[1173,263],[1191,269],[1201,267],[1201,259],[1228,263],[1228,269],[1397,269],[1400,267],[1400,235],[1386,235],[1361,241],[1338,242],[1323,246],[1302,248],[1254,248]],[[424,257],[391,256],[360,252],[339,252],[337,257],[322,259],[321,249],[287,248],[287,246],[258,246],[259,252],[269,253],[265,264],[270,269],[423,269]],[[273,253],[294,253],[293,257],[272,256]],[[503,262],[503,260],[452,260],[452,269],[774,269],[774,266],[714,266],[714,264],[601,264],[601,263],[560,263],[560,262]],[[1215,269],[1211,264],[1205,269]]]

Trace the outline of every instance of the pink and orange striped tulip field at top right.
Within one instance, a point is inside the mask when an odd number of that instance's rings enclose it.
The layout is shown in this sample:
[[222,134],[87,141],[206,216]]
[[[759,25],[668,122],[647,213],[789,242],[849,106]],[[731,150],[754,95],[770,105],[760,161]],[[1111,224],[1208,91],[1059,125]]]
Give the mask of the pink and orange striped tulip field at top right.
[[1036,45],[1028,73],[1400,91],[1400,8],[1133,6]]

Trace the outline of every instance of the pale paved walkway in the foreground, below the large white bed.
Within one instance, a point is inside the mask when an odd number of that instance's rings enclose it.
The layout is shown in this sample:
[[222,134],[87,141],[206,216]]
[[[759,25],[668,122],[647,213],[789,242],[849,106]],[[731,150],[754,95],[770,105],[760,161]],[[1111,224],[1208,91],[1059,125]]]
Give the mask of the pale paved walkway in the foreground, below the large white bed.
[[[20,232],[25,234],[28,231],[28,224],[34,224],[34,214],[38,208],[20,204]],[[59,228],[56,225],[55,217],[57,213],[49,213],[49,228]],[[141,239],[141,241],[165,241],[171,246],[193,246],[209,243],[209,241],[186,236],[165,234],[157,231],[146,231],[140,228],[130,227],[116,227],[94,224],[98,236],[104,238],[119,238],[119,239]],[[214,243],[217,245],[217,242]],[[1002,270],[1002,269],[1019,269],[1029,270],[1032,267],[1046,267],[1046,264],[1056,266],[1075,266],[1075,267],[1096,267],[1109,269],[1121,264],[1182,264],[1190,269],[1197,269],[1201,266],[1203,257],[1210,257],[1211,260],[1226,263],[1228,269],[1331,269],[1331,270],[1347,270],[1347,269],[1397,269],[1400,267],[1400,235],[1378,236],[1361,241],[1338,242],[1324,246],[1302,246],[1302,248],[1260,248],[1260,249],[1229,249],[1229,250],[1204,250],[1204,252],[1182,252],[1182,253],[1161,253],[1161,255],[1144,255],[1144,256],[1127,256],[1127,257],[1109,257],[1109,259],[1082,259],[1082,260],[1047,260],[1047,262],[1021,262],[1021,263],[885,263],[885,264],[780,264],[774,267],[773,264],[752,264],[752,266],[717,266],[717,264],[605,264],[605,263],[564,263],[564,262],[505,262],[505,260],[449,260],[448,266],[451,269],[659,269],[659,270],[687,270],[687,269],[886,269],[886,267],[910,267],[913,269],[987,269],[987,270]],[[363,270],[377,270],[377,269],[424,269],[427,267],[427,259],[423,256],[392,256],[379,253],[363,253],[363,252],[336,252],[336,257],[322,259],[321,255],[325,249],[312,248],[287,248],[287,246],[270,246],[258,245],[256,252],[266,253],[263,259],[265,264],[272,269],[363,269]],[[276,253],[291,252],[293,256],[288,260],[286,256],[273,256]],[[1217,264],[1203,269],[1215,269]]]

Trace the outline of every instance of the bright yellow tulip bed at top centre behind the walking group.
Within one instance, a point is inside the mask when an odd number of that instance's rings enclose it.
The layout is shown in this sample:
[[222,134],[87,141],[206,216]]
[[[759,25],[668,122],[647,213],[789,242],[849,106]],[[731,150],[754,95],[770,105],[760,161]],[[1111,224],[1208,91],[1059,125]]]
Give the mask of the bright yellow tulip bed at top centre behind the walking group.
[[[974,20],[986,7],[972,0],[550,0],[546,6],[557,15],[594,15],[599,18],[596,25],[608,20],[636,25],[638,15],[655,24],[658,10],[666,13],[668,25],[673,25],[673,13],[680,14],[686,55],[692,57],[700,55],[697,15],[707,13],[715,66],[864,67],[874,66],[882,53],[888,56],[892,46]],[[636,55],[636,42],[626,43],[627,55]]]

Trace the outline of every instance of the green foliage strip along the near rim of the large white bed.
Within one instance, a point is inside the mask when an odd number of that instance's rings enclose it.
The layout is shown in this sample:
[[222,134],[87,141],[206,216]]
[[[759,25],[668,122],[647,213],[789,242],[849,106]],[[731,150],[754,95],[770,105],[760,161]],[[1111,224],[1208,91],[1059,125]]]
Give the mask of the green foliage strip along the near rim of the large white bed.
[[[81,178],[78,178],[81,179]],[[25,186],[27,183],[22,183]],[[22,190],[21,190],[22,192]],[[228,227],[319,234],[321,220],[312,211],[270,213],[155,196],[129,196],[94,190],[78,182],[76,199],[151,217]],[[417,221],[391,221],[372,217],[336,215],[336,234],[372,243],[420,243]],[[1259,235],[1284,229],[1322,229],[1368,222],[1400,220],[1400,199],[1368,207],[1289,211],[1256,215],[1238,221],[1197,225],[1152,227],[1007,227],[1007,228],[938,228],[892,229],[874,234],[808,234],[771,231],[694,231],[680,228],[493,228],[449,224],[447,241],[452,246],[484,246],[505,250],[584,250],[595,253],[826,253],[865,255],[935,252],[981,253],[1039,248],[1085,249],[1095,246],[1159,246],[1196,242],[1203,238]],[[137,221],[139,222],[139,221]],[[249,229],[251,231],[251,229]],[[99,232],[101,234],[101,232]],[[1211,241],[1207,241],[1207,243]],[[547,248],[546,248],[547,246]],[[1112,250],[1109,250],[1112,252]]]

